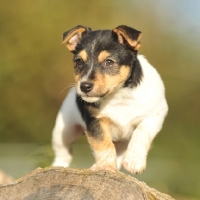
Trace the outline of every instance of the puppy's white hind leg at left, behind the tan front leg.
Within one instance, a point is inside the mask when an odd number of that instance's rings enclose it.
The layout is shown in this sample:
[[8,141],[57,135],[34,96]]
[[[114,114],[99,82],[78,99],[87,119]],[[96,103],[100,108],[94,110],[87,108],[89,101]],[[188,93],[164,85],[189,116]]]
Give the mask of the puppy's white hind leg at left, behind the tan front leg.
[[53,166],[69,167],[72,144],[84,132],[84,122],[75,101],[75,90],[70,91],[57,115],[52,145],[55,154]]

